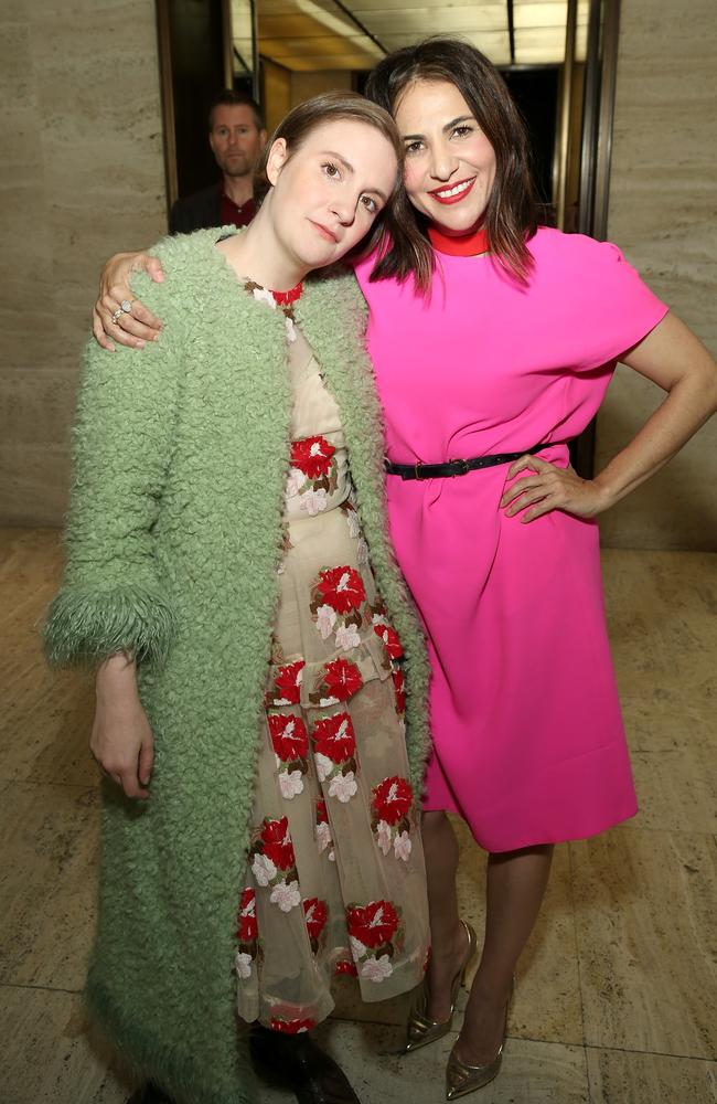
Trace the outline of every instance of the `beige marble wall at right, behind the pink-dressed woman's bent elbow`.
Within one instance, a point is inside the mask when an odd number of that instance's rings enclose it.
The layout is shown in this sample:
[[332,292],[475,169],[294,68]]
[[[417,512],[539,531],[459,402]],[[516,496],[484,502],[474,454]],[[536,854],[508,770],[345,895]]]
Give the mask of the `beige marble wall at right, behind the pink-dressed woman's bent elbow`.
[[[714,0],[622,0],[608,236],[717,353]],[[622,367],[598,420],[598,469],[662,392]],[[717,418],[601,521],[603,543],[717,549]]]

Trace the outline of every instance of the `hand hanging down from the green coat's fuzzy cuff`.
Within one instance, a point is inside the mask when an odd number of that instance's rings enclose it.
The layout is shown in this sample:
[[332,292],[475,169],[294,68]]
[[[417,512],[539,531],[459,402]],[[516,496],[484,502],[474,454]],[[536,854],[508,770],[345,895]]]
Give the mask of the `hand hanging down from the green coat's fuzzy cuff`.
[[89,750],[128,797],[149,797],[154,736],[137,692],[135,665],[124,656],[113,656],[97,672]]

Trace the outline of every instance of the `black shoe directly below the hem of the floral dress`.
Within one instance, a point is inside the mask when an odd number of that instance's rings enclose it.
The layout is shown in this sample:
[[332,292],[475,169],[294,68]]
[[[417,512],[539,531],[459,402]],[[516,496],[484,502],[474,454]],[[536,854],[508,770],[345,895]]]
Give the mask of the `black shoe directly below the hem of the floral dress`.
[[361,1104],[341,1066],[308,1031],[289,1036],[255,1025],[249,1052],[257,1071],[292,1089],[299,1104]]

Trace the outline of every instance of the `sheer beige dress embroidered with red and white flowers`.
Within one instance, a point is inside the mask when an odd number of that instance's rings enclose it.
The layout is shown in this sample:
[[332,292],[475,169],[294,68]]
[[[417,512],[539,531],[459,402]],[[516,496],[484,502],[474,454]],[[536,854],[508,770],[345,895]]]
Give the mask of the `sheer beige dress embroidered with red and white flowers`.
[[402,647],[354,505],[339,408],[291,307],[291,468],[236,973],[239,1016],[307,1030],[331,979],[364,1000],[420,981],[428,915],[408,781]]

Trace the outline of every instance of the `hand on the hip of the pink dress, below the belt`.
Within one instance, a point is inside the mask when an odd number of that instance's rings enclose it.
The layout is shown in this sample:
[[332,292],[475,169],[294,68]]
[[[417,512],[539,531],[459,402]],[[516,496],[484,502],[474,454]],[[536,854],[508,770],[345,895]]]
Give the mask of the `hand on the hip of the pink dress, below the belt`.
[[507,508],[506,518],[521,513],[524,524],[550,510],[593,518],[611,505],[603,488],[592,479],[581,479],[571,467],[559,468],[539,456],[522,456],[511,465],[507,478],[515,479],[521,471],[531,475],[516,480],[503,492],[501,508]]

